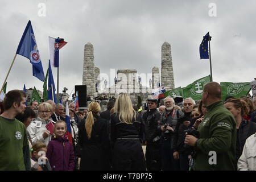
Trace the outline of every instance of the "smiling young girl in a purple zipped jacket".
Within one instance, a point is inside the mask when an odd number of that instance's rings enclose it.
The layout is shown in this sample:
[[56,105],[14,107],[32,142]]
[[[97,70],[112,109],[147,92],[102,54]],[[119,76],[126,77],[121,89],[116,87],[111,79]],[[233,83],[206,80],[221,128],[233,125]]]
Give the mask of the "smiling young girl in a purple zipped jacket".
[[75,167],[73,145],[65,135],[66,131],[67,126],[64,121],[55,123],[55,136],[49,142],[46,152],[53,171],[73,171]]

